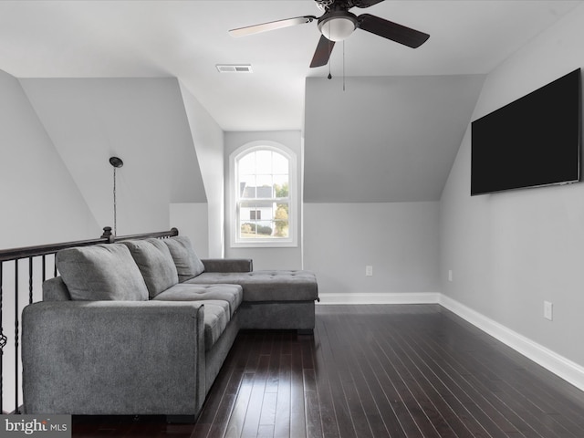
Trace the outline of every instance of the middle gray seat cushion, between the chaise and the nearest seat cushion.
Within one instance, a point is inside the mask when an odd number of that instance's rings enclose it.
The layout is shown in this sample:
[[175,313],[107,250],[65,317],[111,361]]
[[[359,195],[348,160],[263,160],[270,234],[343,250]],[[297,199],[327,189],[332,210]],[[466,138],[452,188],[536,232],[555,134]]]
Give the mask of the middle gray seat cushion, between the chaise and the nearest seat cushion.
[[179,283],[154,297],[160,301],[201,301],[223,300],[229,304],[229,316],[233,317],[241,304],[244,292],[239,285],[191,285]]

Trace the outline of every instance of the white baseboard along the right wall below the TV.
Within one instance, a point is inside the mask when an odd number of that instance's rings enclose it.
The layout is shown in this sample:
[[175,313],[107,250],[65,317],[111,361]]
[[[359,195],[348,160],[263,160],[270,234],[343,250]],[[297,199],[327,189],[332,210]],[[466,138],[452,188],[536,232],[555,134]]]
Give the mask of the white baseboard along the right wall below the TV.
[[440,294],[440,305],[584,391],[584,367],[578,363],[560,356],[555,351],[537,344],[450,297]]

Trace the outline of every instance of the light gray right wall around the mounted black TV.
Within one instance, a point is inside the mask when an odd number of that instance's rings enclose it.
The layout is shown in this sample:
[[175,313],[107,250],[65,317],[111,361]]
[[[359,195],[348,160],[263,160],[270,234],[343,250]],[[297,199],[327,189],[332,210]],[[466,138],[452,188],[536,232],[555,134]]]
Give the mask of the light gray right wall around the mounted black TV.
[[[491,72],[473,120],[584,67],[582,23],[579,6]],[[469,125],[441,201],[443,294],[584,365],[584,184],[471,197],[470,156]]]

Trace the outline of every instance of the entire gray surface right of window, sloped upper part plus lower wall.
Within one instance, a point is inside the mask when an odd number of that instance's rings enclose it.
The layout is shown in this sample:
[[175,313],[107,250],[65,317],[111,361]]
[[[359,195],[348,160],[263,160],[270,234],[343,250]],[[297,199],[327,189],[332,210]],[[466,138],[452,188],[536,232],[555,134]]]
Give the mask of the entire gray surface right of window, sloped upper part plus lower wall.
[[307,79],[304,267],[323,303],[437,300],[440,194],[483,81]]

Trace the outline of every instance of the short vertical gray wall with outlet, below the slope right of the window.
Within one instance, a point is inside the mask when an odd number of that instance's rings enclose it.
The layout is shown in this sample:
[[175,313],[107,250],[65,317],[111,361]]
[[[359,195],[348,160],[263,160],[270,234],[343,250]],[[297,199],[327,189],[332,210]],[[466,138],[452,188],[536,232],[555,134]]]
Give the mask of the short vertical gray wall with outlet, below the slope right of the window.
[[438,214],[437,202],[305,204],[304,266],[317,274],[322,302],[439,292]]

